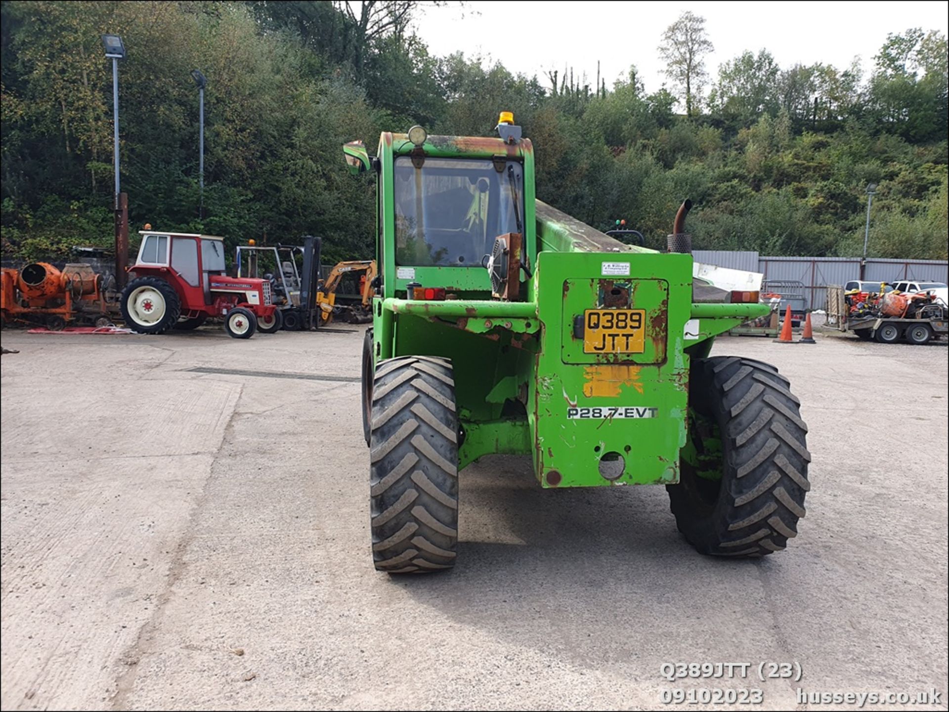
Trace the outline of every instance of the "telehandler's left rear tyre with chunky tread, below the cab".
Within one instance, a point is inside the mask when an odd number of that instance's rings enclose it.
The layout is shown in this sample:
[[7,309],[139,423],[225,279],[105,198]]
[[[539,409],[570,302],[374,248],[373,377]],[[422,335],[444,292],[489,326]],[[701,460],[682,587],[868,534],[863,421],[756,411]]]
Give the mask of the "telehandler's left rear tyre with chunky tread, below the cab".
[[458,421],[452,363],[381,361],[372,386],[372,558],[378,571],[450,569],[458,540]]

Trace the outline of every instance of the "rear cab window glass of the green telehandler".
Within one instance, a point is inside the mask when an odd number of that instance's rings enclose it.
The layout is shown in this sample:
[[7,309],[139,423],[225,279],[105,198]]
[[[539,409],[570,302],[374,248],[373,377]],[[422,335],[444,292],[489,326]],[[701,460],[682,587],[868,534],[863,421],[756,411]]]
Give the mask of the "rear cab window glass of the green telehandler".
[[[517,201],[516,214],[514,201]],[[425,158],[395,162],[396,262],[480,267],[494,238],[524,221],[524,180],[516,161]]]

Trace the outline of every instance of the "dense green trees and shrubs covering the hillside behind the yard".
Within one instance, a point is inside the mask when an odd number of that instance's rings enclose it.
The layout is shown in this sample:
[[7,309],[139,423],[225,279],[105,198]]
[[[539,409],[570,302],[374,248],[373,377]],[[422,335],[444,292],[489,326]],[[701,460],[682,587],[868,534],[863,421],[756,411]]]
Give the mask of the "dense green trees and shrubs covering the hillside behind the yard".
[[[635,67],[612,87],[574,72],[513,75],[433,57],[414,2],[22,2],[0,6],[2,252],[56,259],[111,246],[112,74],[121,34],[121,178],[130,223],[221,234],[230,246],[324,237],[326,261],[373,251],[371,180],[341,144],[381,130],[488,136],[509,110],[533,141],[537,195],[598,228],[625,218],[662,247],[681,201],[700,248],[857,255],[865,187],[870,253],[946,256],[947,69],[940,32],[891,35],[859,67],[780,68],[767,50],[722,64],[702,114],[701,18],[662,52],[678,97]],[[687,15],[689,13],[686,13]],[[692,47],[691,59],[685,52]],[[197,92],[205,93],[204,211]],[[677,116],[683,99],[687,116]],[[815,101],[816,99],[816,101]]]

